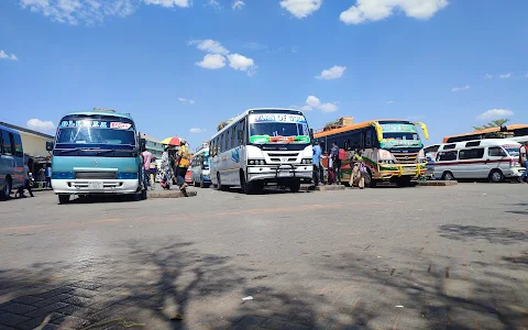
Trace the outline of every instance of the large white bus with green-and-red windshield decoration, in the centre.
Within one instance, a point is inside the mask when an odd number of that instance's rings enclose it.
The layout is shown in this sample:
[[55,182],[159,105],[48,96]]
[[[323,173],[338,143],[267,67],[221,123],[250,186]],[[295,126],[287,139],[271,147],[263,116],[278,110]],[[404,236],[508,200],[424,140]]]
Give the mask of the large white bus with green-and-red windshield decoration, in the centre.
[[219,188],[240,186],[257,193],[273,183],[294,193],[311,180],[311,132],[302,112],[250,109],[211,138],[211,182]]

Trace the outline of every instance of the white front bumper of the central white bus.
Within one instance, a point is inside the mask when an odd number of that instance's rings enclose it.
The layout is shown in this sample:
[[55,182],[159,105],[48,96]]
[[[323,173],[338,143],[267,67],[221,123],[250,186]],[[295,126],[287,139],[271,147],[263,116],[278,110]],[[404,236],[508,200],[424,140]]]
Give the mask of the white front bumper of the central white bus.
[[285,179],[311,179],[314,167],[311,165],[284,165],[284,166],[251,166],[248,167],[248,182],[266,180],[280,182]]

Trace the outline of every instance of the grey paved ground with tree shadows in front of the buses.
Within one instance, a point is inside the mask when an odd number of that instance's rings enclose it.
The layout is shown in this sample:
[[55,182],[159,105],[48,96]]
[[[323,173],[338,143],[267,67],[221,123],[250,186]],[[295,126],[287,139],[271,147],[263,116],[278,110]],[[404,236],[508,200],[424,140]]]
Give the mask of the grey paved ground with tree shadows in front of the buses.
[[526,329],[527,189],[38,193],[0,204],[0,329]]

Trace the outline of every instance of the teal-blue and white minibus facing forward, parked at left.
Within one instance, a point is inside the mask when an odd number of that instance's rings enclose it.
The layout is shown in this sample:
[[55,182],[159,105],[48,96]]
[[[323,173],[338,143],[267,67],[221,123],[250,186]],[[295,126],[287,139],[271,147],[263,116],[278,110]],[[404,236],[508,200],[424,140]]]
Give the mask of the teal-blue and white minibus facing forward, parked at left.
[[113,110],[72,112],[61,119],[53,151],[52,186],[61,204],[72,195],[142,191],[143,166],[134,121]]

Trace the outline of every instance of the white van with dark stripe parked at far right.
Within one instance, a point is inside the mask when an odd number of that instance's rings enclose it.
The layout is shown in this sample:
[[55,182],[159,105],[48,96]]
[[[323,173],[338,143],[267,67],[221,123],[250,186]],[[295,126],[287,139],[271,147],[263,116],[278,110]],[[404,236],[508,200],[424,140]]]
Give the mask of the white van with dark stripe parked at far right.
[[501,183],[518,179],[520,144],[509,139],[484,139],[440,145],[435,162],[437,179],[480,179]]

